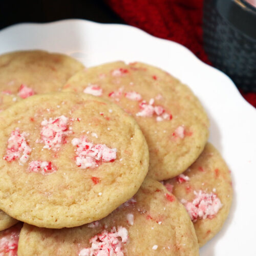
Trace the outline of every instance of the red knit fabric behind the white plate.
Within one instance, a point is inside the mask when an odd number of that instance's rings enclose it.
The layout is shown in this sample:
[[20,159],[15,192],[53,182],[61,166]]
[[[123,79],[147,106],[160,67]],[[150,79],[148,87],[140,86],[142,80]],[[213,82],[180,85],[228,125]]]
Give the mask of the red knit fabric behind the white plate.
[[[203,0],[106,0],[125,23],[179,42],[210,64],[202,46]],[[243,93],[256,107],[256,94]]]

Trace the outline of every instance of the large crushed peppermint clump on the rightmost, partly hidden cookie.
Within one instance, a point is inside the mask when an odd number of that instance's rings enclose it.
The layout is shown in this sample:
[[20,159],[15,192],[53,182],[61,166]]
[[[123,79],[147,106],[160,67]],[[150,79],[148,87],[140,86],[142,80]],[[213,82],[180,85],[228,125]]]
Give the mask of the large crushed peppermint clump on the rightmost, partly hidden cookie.
[[193,202],[183,202],[190,219],[196,222],[198,218],[213,218],[222,207],[220,199],[215,194],[207,194],[200,190],[194,191],[196,198]]

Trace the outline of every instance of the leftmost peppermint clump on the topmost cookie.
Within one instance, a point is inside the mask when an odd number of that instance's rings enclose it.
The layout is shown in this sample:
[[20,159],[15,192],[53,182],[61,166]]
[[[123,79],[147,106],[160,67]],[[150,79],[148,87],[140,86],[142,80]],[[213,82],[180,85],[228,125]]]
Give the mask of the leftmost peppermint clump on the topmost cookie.
[[31,153],[31,148],[29,147],[26,137],[29,134],[23,132],[20,134],[18,128],[11,132],[11,136],[8,139],[6,155],[4,159],[11,162],[19,158],[20,163],[26,163],[29,159],[29,154]]

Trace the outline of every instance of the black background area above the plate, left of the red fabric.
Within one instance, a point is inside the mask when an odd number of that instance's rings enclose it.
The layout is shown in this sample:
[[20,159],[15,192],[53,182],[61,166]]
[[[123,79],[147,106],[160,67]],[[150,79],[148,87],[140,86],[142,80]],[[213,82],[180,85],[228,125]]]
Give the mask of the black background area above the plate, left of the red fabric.
[[100,23],[124,23],[106,1],[0,0],[0,29],[16,23],[45,23],[67,18],[89,19]]

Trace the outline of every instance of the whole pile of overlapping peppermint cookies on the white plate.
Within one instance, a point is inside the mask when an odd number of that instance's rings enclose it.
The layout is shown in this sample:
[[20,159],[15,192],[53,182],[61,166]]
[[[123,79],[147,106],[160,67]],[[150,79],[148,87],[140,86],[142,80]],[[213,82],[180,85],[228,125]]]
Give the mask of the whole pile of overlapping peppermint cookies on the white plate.
[[0,90],[1,256],[198,255],[221,229],[228,168],[168,73],[23,51]]

